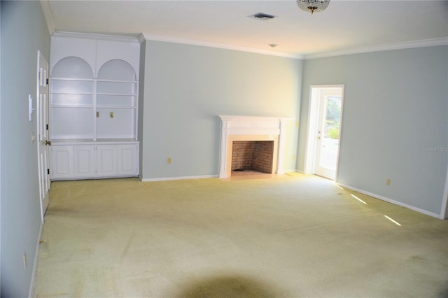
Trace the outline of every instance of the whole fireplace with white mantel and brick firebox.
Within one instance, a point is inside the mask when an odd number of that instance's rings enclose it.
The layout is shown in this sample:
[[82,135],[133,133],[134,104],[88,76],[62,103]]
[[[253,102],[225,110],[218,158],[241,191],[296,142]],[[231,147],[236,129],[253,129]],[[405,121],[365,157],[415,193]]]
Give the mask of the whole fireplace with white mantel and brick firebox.
[[228,115],[220,115],[220,118],[219,178],[228,178],[232,171],[241,169],[283,173],[281,165],[288,118]]

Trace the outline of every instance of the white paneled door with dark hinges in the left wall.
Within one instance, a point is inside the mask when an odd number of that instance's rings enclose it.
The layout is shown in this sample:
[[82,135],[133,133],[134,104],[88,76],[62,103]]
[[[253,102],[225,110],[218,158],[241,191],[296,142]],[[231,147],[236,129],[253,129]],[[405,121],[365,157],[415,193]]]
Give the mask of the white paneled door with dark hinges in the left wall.
[[50,201],[50,164],[49,150],[51,145],[48,134],[48,62],[41,51],[37,52],[37,154],[39,176],[39,199],[41,202],[41,220],[47,211]]

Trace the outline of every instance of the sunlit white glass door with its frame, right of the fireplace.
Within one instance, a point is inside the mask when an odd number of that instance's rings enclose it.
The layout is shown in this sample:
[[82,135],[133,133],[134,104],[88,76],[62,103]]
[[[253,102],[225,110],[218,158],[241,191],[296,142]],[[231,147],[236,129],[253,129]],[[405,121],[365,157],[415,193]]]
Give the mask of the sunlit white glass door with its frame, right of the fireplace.
[[305,173],[336,179],[343,85],[312,86]]

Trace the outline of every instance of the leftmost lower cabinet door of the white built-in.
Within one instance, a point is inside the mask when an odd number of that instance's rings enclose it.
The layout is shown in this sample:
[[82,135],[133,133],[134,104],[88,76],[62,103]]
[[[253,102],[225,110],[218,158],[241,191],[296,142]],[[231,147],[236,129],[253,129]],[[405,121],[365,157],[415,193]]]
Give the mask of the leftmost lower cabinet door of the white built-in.
[[73,146],[52,146],[50,177],[73,178]]

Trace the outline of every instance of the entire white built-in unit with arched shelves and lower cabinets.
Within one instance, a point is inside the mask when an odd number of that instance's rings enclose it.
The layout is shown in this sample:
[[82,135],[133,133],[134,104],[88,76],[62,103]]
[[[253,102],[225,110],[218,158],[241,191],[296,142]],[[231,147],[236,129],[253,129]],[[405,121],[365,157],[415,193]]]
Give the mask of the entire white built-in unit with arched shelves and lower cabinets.
[[53,180],[138,176],[139,48],[127,38],[52,36]]

